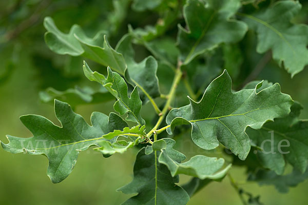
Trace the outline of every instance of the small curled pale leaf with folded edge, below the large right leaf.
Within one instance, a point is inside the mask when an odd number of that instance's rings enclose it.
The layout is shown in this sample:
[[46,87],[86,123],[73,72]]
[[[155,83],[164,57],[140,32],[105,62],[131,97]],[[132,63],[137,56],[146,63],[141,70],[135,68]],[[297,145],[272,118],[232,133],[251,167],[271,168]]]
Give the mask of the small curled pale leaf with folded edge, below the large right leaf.
[[[157,146],[157,144],[165,145]],[[217,177],[220,178],[220,174],[217,176],[217,173],[224,165],[223,158],[217,159],[216,157],[196,155],[191,157],[190,160],[181,163],[183,158],[179,157],[179,154],[181,154],[180,152],[172,148],[174,145],[175,140],[170,138],[157,140],[153,142],[152,145],[153,150],[161,151],[158,157],[158,161],[168,167],[171,172],[171,176],[186,174],[189,176],[198,177],[200,179],[217,179]],[[228,170],[230,167],[231,166],[229,165],[226,170]]]

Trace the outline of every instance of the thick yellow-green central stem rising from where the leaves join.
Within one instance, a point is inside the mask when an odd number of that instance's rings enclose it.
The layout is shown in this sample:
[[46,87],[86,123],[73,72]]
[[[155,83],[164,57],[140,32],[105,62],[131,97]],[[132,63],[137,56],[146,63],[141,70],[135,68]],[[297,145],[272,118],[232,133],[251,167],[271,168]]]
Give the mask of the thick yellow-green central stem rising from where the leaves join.
[[[175,97],[175,94],[176,94],[176,89],[177,89],[177,86],[178,84],[180,83],[180,80],[181,80],[181,77],[182,77],[182,71],[180,69],[181,67],[181,64],[179,63],[179,66],[176,70],[176,75],[175,75],[175,78],[174,78],[174,81],[172,83],[172,86],[171,86],[171,89],[169,91],[169,94],[168,94],[168,99],[166,101],[166,104],[162,110],[162,112],[160,113],[160,117],[158,118],[157,122],[156,122],[156,125],[153,127],[153,129],[151,129],[151,131],[149,131],[147,133],[147,137],[150,138],[152,136],[152,134],[158,129],[158,127],[161,125],[163,119],[165,118],[165,115],[169,109],[169,106],[172,102],[172,100],[174,99]],[[155,139],[154,139],[155,141]]]

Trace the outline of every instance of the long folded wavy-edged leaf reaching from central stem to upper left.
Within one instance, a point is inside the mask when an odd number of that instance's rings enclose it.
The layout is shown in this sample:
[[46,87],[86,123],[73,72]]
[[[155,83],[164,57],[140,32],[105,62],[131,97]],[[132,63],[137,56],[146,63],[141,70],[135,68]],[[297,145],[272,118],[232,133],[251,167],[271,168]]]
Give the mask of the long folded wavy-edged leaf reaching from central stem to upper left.
[[[84,34],[79,26],[74,25],[69,34],[64,34],[56,28],[50,17],[45,18],[44,25],[48,30],[45,34],[46,44],[52,51],[59,54],[82,55],[103,66],[109,66],[113,71],[125,76],[130,84],[138,85],[138,88],[149,100],[152,101],[152,98],[160,96],[156,76],[156,59],[149,56],[142,62],[136,63],[133,59],[134,51],[131,47],[129,34],[123,36],[116,51],[109,45],[106,36],[102,37],[102,33],[91,39]],[[158,110],[158,108],[156,109]]]

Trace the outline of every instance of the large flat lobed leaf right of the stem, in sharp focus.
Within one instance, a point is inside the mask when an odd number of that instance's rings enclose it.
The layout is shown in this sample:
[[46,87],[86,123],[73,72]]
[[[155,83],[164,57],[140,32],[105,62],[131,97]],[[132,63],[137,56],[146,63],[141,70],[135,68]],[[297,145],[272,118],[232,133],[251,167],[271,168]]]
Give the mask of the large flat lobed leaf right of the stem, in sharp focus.
[[261,86],[262,83],[255,89],[234,93],[225,70],[207,87],[199,103],[189,98],[189,105],[169,112],[167,132],[172,134],[175,126],[190,124],[191,137],[197,146],[210,150],[221,142],[244,160],[251,148],[246,128],[260,129],[266,121],[286,116],[293,103],[289,95],[281,93],[279,84],[257,92]]

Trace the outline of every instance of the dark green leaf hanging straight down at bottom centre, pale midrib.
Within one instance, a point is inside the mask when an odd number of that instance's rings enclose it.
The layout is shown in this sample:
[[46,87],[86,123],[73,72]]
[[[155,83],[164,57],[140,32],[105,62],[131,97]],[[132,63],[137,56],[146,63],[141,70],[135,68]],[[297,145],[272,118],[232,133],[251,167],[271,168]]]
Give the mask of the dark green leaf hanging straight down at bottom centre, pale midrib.
[[133,168],[133,180],[118,189],[125,194],[138,195],[123,204],[185,205],[188,202],[188,194],[175,184],[179,182],[179,177],[172,177],[168,168],[158,163],[159,154],[160,151],[154,151],[149,155],[145,154],[144,149],[139,151]]

